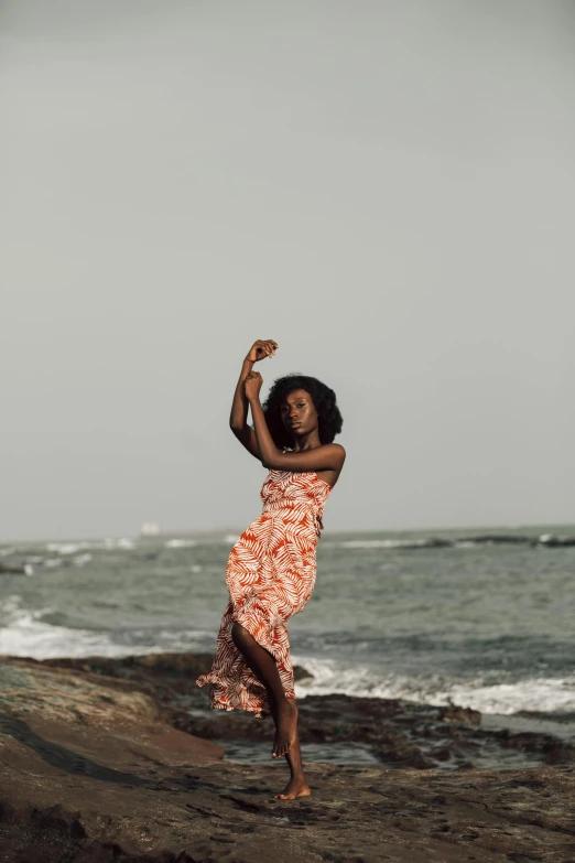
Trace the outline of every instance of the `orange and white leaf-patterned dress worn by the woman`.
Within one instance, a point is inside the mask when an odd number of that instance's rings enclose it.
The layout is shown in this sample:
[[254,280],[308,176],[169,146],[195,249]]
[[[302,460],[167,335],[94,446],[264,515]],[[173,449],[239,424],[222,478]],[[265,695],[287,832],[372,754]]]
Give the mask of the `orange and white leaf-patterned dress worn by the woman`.
[[270,713],[265,688],[231,638],[237,621],[275,659],[286,698],[294,699],[288,621],[305,607],[315,584],[317,538],[332,487],[315,473],[270,471],[261,488],[263,511],[231,549],[226,568],[229,602],[211,670],[197,678],[211,686],[220,710]]

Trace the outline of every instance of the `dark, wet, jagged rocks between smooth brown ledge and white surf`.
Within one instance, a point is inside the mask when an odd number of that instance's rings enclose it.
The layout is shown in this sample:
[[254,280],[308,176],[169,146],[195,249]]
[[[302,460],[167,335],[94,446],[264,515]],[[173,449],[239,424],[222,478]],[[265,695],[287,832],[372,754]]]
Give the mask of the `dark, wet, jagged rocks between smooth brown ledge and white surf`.
[[[32,660],[31,660],[32,661]],[[79,669],[128,680],[162,706],[174,727],[219,742],[272,740],[271,720],[245,711],[214,711],[195,679],[210,668],[204,654],[150,654],[126,659],[48,659],[42,666]],[[307,676],[295,668],[296,680]],[[302,743],[362,743],[387,767],[460,769],[539,766],[575,762],[575,749],[550,734],[481,729],[480,713],[456,705],[433,708],[406,701],[307,695],[299,702]]]

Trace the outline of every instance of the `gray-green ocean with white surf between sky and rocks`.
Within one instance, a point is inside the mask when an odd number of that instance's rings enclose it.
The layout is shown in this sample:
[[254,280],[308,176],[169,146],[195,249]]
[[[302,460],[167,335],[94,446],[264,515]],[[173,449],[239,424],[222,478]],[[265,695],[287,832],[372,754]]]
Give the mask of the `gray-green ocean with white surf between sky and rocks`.
[[[294,664],[312,675],[296,694],[453,701],[573,726],[575,546],[553,537],[574,536],[549,525],[325,531],[315,592],[290,622]],[[213,652],[236,539],[0,544],[0,654]]]

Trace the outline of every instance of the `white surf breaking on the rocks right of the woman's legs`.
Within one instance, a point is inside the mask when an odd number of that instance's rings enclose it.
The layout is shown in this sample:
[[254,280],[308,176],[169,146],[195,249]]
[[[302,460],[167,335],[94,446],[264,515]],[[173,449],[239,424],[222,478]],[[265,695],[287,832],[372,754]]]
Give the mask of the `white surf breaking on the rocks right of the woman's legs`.
[[312,679],[295,686],[299,698],[340,692],[359,698],[388,698],[420,704],[458,704],[481,713],[511,715],[520,711],[569,713],[575,711],[575,672],[564,678],[529,678],[514,683],[485,686],[481,679],[464,683],[442,677],[413,678],[380,675],[362,666],[333,659],[293,657]]

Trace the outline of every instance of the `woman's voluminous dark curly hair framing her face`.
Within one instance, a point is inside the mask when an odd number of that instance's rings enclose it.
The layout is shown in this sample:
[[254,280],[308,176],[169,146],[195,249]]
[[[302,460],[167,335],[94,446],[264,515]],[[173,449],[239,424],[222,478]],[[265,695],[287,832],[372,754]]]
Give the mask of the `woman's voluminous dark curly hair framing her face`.
[[293,443],[292,435],[282,422],[281,403],[294,389],[305,389],[310,393],[317,411],[319,440],[322,443],[332,443],[344,424],[334,390],[317,378],[294,371],[292,375],[285,375],[285,377],[273,381],[263,403],[265,422],[275,446],[291,446]]

